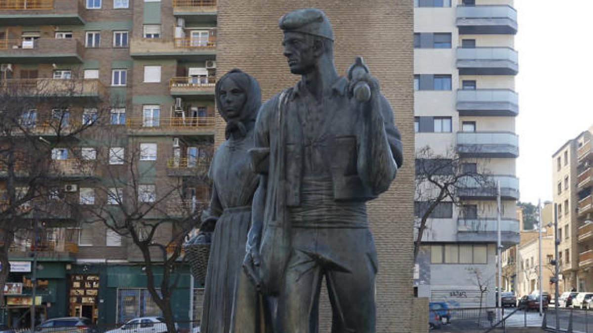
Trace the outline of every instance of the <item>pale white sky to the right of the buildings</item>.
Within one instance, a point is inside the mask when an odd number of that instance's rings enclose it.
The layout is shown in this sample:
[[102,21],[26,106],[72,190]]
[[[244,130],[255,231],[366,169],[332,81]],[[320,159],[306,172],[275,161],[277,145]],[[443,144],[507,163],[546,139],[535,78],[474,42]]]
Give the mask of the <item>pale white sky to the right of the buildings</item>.
[[593,125],[593,1],[515,0],[520,201],[552,199],[552,159]]

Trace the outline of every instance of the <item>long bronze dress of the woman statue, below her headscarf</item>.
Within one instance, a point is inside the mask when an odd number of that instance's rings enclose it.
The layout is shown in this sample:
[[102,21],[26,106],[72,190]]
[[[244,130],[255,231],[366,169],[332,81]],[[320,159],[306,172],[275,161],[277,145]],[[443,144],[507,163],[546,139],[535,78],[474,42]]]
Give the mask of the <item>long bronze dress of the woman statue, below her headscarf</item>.
[[[253,131],[243,139],[228,139],[212,161],[209,213],[218,222],[212,236],[200,331],[256,333],[257,293],[241,264],[251,222],[251,201],[259,178],[251,171],[247,150]],[[236,325],[234,325],[235,323]]]

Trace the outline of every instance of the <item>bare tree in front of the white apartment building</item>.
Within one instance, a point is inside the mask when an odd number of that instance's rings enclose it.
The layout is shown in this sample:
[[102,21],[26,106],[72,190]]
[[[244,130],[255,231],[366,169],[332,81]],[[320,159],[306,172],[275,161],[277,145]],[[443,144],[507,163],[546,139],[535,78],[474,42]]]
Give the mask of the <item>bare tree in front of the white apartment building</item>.
[[495,191],[494,182],[488,176],[489,172],[485,169],[479,171],[476,163],[471,162],[471,159],[461,158],[454,149],[449,149],[444,155],[433,152],[429,146],[416,151],[414,200],[415,216],[419,223],[414,245],[414,261],[422,245],[426,223],[439,204],[451,203],[453,206],[462,206],[461,192],[474,188]]

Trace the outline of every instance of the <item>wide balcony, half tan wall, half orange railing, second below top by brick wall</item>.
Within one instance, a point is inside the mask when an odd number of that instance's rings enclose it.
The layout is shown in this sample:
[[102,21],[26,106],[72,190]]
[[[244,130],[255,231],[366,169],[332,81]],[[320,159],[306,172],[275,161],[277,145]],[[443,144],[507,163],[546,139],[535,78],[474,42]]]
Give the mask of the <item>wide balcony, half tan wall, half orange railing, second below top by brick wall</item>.
[[211,59],[216,56],[216,38],[208,39],[176,38],[176,39],[132,39],[130,55],[142,59],[180,59],[192,60],[197,58]]

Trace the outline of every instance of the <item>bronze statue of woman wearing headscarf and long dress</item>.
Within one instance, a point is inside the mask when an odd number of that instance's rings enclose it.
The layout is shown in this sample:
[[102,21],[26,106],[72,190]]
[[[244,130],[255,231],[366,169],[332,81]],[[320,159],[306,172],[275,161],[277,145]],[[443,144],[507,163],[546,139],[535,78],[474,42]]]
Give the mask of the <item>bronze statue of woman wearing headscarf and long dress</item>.
[[241,260],[259,181],[248,149],[253,148],[262,95],[257,81],[238,69],[216,82],[215,94],[219,113],[227,121],[227,140],[212,159],[212,200],[200,226],[200,232],[213,230],[200,331],[259,333],[261,302]]

